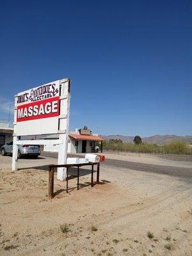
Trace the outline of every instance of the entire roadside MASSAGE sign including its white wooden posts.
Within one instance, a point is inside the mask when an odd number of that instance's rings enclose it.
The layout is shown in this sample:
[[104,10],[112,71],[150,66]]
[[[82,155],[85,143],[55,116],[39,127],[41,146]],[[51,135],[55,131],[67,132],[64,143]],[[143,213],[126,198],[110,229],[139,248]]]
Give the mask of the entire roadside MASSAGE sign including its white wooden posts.
[[[61,79],[15,95],[12,170],[17,170],[19,145],[58,148],[58,164],[67,163],[70,79]],[[58,134],[58,140],[20,140],[20,136]],[[58,168],[58,179],[66,178]]]

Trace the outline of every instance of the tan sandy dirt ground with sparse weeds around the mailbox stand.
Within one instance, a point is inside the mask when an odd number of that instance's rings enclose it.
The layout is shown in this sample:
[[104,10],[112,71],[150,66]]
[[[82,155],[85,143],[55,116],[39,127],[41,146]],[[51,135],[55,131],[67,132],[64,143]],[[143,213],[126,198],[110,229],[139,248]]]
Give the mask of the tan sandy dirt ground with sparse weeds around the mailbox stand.
[[56,159],[20,159],[17,172],[10,162],[0,156],[0,255],[192,255],[191,180],[101,164],[100,185],[82,170],[67,194],[55,178],[50,200]]

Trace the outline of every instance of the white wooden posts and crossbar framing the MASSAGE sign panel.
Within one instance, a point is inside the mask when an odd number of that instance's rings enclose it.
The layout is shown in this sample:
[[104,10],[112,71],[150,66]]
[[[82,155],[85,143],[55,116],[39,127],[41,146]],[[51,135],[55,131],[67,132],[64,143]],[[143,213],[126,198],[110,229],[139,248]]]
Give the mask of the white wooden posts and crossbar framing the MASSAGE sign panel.
[[[17,154],[19,145],[59,145],[58,148],[58,164],[63,165],[67,163],[67,143],[68,143],[68,127],[69,127],[69,112],[70,112],[70,79],[60,80],[60,115],[58,122],[59,140],[20,140],[17,136],[17,95],[15,95],[15,109],[14,109],[14,132],[13,132],[13,156],[12,156],[12,170],[17,170]],[[30,135],[30,134],[29,134]],[[42,135],[42,134],[40,134]],[[58,167],[57,178],[65,180],[67,177],[67,170],[65,166]]]

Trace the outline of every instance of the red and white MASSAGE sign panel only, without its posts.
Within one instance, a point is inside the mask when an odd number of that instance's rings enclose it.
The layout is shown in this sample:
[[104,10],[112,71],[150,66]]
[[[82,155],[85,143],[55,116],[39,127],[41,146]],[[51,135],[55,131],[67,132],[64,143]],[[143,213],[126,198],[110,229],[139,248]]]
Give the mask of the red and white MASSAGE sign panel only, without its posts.
[[60,80],[17,94],[16,136],[58,133]]

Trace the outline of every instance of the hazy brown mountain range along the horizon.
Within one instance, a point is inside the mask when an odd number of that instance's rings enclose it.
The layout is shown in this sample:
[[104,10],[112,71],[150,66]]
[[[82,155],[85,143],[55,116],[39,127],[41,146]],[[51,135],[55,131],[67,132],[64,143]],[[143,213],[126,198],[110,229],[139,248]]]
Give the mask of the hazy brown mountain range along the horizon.
[[[123,135],[100,135],[100,137],[104,138],[105,140],[110,139],[118,139],[122,140],[124,143],[133,143],[134,136],[123,136]],[[170,141],[184,141],[186,143],[191,142],[192,143],[192,136],[186,135],[186,136],[177,136],[177,135],[154,135],[150,137],[144,137],[142,138],[143,142],[147,143],[156,143],[156,144],[164,144],[168,143]]]

